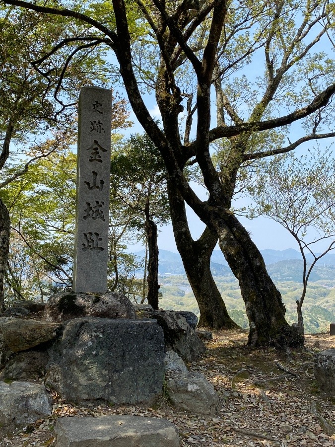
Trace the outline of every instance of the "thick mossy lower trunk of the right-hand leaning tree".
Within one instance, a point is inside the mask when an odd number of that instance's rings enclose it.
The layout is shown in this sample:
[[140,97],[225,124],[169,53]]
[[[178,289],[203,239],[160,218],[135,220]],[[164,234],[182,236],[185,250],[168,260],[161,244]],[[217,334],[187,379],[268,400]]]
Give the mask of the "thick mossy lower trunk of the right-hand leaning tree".
[[303,337],[285,320],[281,295],[248,231],[225,209],[216,210],[212,223],[224,257],[239,281],[249,319],[248,344],[272,345],[279,349],[303,346]]

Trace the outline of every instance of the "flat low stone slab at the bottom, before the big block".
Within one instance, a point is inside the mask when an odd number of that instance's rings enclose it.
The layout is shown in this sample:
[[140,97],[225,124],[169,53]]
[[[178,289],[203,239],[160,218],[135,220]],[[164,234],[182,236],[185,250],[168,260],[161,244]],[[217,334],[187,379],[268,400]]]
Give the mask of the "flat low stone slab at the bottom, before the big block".
[[176,426],[162,418],[59,418],[55,447],[179,447]]

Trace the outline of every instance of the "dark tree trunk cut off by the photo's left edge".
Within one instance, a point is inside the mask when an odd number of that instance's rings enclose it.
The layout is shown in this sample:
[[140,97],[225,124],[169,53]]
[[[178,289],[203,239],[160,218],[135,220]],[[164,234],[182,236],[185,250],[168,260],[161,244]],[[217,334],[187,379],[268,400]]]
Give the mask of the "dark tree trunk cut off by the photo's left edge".
[[9,252],[10,220],[7,207],[0,199],[0,312],[4,310],[3,281]]

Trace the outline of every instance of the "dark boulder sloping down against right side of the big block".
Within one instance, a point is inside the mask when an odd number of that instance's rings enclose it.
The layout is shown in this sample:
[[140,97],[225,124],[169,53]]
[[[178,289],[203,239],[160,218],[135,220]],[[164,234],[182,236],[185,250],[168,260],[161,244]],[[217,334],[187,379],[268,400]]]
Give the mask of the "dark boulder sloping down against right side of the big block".
[[179,312],[153,310],[144,311],[143,315],[157,321],[164,331],[167,349],[177,352],[186,362],[192,362],[205,352],[205,345]]

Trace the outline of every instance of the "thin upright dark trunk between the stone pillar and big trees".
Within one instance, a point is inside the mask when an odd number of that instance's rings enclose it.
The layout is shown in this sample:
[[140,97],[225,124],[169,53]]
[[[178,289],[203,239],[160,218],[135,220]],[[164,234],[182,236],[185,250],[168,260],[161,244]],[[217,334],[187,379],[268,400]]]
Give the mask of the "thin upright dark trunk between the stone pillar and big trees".
[[145,231],[148,241],[148,303],[151,304],[154,310],[159,309],[158,305],[158,291],[160,285],[158,284],[158,244],[157,244],[157,225],[151,220],[145,220]]

